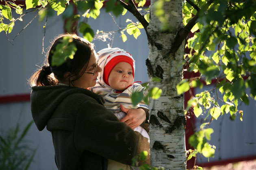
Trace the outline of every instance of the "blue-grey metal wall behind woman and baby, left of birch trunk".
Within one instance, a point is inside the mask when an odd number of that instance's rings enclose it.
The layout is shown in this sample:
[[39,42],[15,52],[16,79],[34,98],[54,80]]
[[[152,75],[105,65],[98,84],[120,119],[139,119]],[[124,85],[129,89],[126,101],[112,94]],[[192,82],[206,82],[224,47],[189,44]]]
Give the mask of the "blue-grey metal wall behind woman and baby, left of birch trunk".
[[[30,10],[28,10],[30,11]],[[24,13],[27,11],[24,9]],[[15,13],[15,12],[14,12]],[[13,14],[14,14],[13,13]],[[98,30],[117,30],[117,26],[113,22],[111,16],[105,13],[105,9],[101,10],[100,18],[97,20],[89,19],[88,23],[96,32]],[[12,40],[16,34],[24,28],[27,23],[35,16],[35,13],[28,13],[23,17],[23,21],[15,22],[13,32],[8,35]],[[16,17],[16,16],[14,16]],[[134,17],[128,15],[129,19]],[[123,28],[126,18],[121,16],[116,19],[117,23]],[[42,38],[44,34],[44,22],[39,22],[38,17],[25,29],[15,40],[8,42],[4,32],[0,33],[0,96],[8,96],[13,94],[30,94],[31,88],[28,85],[28,79],[33,72],[41,66],[44,61],[42,52]],[[50,45],[49,41],[56,34],[63,33],[64,21],[61,17],[48,18],[46,25],[46,37],[44,39],[44,48]],[[135,40],[133,36],[127,34],[128,40],[123,43],[119,38],[120,33],[117,32],[113,41],[113,47],[119,47],[130,52],[136,60],[135,81],[148,81],[145,60],[148,57],[148,43],[145,32]],[[108,47],[109,42],[100,42],[95,40],[96,50]],[[30,102],[16,102],[9,104],[0,104],[0,133],[6,132],[10,127],[15,127],[18,117],[22,114],[20,124],[22,127],[32,120],[30,112]],[[42,132],[37,130],[35,124],[32,125],[27,140],[31,141],[31,147],[37,148],[34,161],[30,166],[30,170],[56,170],[54,162],[54,148],[50,132],[44,129]]]

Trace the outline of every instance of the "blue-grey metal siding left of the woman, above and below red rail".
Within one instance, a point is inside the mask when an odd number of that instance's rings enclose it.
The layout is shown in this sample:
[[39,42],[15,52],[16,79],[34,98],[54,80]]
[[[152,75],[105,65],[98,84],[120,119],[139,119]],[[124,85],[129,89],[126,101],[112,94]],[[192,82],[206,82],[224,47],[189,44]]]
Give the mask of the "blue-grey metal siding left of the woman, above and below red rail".
[[[26,12],[24,9],[24,13]],[[13,14],[15,14],[14,11]],[[12,40],[34,16],[35,13],[28,13],[23,17],[22,22],[16,21],[13,32],[8,35],[9,39]],[[39,22],[37,17],[15,38],[12,42],[13,45],[8,42],[4,32],[0,33],[0,96],[30,93],[31,88],[27,80],[37,69],[36,65],[41,66],[44,60],[44,55],[41,54],[43,25],[44,21]],[[46,26],[48,29],[46,30],[44,41],[45,48],[50,45],[50,39],[63,32],[63,25],[62,19],[57,19],[57,17],[48,18]],[[33,119],[30,111],[30,102],[0,104],[0,130],[15,127],[20,113],[22,113],[20,124],[25,127]],[[30,142],[32,148],[37,148],[30,170],[56,170],[50,132],[47,130],[39,132],[35,124],[33,124],[26,139]]]

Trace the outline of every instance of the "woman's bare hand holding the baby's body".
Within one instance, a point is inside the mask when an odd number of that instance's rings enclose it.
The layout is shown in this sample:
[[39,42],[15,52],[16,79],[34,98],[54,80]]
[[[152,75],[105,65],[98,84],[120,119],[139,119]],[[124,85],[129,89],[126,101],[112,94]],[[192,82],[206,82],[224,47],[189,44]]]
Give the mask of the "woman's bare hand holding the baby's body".
[[146,120],[146,113],[142,108],[125,108],[122,104],[120,104],[120,108],[127,114],[120,121],[125,122],[132,129],[135,129]]

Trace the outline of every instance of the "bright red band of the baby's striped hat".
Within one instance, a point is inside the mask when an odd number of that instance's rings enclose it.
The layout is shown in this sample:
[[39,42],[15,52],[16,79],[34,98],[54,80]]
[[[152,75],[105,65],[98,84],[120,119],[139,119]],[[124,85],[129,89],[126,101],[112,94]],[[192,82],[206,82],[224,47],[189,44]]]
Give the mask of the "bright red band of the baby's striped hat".
[[[121,51],[116,52],[116,53],[120,53],[121,54]],[[127,63],[129,63],[132,66],[132,76],[134,78],[134,68],[133,68],[133,65],[134,65],[135,61],[131,57],[128,57],[126,55],[119,55],[118,54],[115,57],[113,57],[104,67],[103,80],[105,81],[105,83],[107,85],[109,85],[108,84],[108,77],[109,77],[110,72],[120,62],[127,62]]]

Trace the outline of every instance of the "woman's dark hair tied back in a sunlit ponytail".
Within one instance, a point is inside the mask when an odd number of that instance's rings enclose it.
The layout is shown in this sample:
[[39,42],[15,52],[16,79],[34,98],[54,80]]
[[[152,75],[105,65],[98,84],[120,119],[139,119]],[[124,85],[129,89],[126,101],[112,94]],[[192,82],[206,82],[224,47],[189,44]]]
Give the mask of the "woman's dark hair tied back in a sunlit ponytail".
[[[62,43],[63,37],[66,36],[72,38],[72,43],[76,45],[77,50],[74,58],[70,59],[69,57],[66,57],[65,62],[60,66],[52,66],[52,56],[54,55],[56,46]],[[91,54],[93,53],[93,47],[94,45],[92,43],[76,34],[61,34],[57,36],[50,46],[50,50],[48,50],[45,65],[30,77],[30,86],[56,85],[58,81],[66,81],[67,79],[69,80],[69,85],[72,84],[82,76],[80,70],[82,68],[86,70]],[[64,74],[67,72],[70,72],[71,74],[69,74],[68,77],[64,77]],[[70,81],[71,77],[75,77],[75,79]]]

